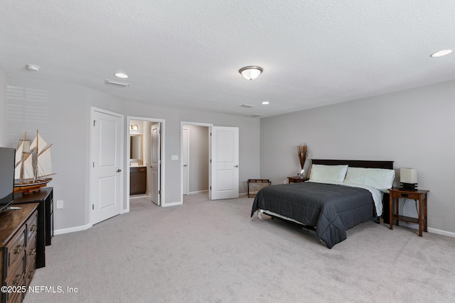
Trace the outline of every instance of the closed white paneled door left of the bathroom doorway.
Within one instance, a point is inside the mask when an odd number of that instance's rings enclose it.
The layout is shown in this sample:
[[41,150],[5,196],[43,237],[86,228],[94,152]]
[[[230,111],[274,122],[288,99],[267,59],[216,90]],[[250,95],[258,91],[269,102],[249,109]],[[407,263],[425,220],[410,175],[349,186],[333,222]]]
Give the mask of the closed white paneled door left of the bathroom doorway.
[[116,216],[123,208],[123,116],[92,109],[91,223]]

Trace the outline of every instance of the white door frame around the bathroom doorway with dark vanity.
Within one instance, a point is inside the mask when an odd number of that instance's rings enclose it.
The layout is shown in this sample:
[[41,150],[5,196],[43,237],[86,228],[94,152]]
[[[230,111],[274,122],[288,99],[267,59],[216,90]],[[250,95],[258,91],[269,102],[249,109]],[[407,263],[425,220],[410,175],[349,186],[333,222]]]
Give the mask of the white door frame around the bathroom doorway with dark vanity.
[[[146,121],[146,122],[152,122],[152,123],[161,123],[161,170],[160,170],[160,184],[161,184],[161,198],[160,198],[160,206],[161,207],[164,207],[164,206],[168,206],[166,205],[166,199],[164,199],[165,197],[165,184],[164,184],[164,181],[166,180],[166,178],[164,177],[164,174],[166,172],[166,170],[164,169],[166,163],[165,163],[165,158],[164,155],[166,155],[165,153],[165,147],[166,147],[166,144],[165,144],[165,124],[166,124],[166,120],[165,119],[156,119],[156,118],[146,118],[146,117],[139,117],[139,116],[127,116],[127,123],[126,123],[126,128],[127,128],[127,131],[125,132],[126,133],[126,136],[127,136],[127,144],[125,146],[125,171],[128,171],[129,172],[129,153],[130,153],[130,150],[131,150],[131,144],[129,142],[129,123],[131,123],[132,120],[139,120],[139,121]],[[126,200],[126,208],[125,208],[125,211],[124,212],[129,212],[129,174],[125,174],[125,184],[127,184],[127,188],[125,189],[125,200]]]

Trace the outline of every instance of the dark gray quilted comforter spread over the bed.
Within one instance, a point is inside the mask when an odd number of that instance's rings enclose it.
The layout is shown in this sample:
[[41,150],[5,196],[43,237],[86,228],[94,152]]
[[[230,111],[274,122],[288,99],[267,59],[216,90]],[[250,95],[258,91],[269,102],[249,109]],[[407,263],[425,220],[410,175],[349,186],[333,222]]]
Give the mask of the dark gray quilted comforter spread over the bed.
[[328,248],[346,240],[346,230],[375,216],[368,189],[315,182],[264,187],[255,197],[251,216],[257,209],[316,227],[316,235]]

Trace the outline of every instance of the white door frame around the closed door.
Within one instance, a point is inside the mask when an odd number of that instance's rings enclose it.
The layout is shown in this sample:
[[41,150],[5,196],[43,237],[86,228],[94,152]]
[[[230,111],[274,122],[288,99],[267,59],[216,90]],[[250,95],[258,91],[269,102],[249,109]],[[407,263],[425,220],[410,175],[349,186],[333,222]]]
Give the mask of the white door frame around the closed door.
[[[93,184],[92,184],[92,181],[93,181],[93,170],[92,170],[92,162],[94,160],[94,155],[93,155],[93,146],[92,146],[92,143],[93,143],[93,129],[92,129],[92,121],[94,119],[94,113],[95,111],[97,112],[100,112],[102,114],[107,114],[107,115],[111,115],[111,116],[119,116],[122,118],[122,123],[124,123],[124,115],[123,114],[119,114],[119,113],[116,113],[114,111],[107,111],[106,109],[100,109],[98,107],[95,107],[95,106],[90,106],[90,143],[89,143],[89,149],[90,149],[90,155],[89,155],[89,158],[90,158],[90,162],[89,162],[89,169],[90,169],[90,177],[89,177],[89,200],[88,200],[88,207],[87,207],[87,211],[88,211],[88,221],[89,221],[89,226],[88,227],[92,227],[94,224],[92,222],[92,210],[91,210],[91,206],[93,204],[92,202],[92,194],[93,194]],[[124,126],[121,125],[120,126],[120,129],[124,132]],[[120,145],[121,145],[121,150],[122,152],[124,153],[124,148],[122,145],[124,145],[124,133],[122,133],[122,140],[123,142],[120,142]],[[123,163],[121,164],[121,167],[124,167],[125,166],[125,162],[124,162],[124,157],[121,157],[121,160],[123,161]],[[124,170],[124,168],[123,168]],[[126,175],[126,174],[123,174],[123,175]],[[122,180],[122,187],[123,189],[125,189],[125,182],[124,182],[124,179],[120,178],[120,180]],[[129,190],[129,189],[128,189]],[[124,213],[124,206],[125,206],[125,200],[124,200],[124,197],[120,197],[120,199],[122,199],[122,209],[120,211],[120,214],[123,214]]]

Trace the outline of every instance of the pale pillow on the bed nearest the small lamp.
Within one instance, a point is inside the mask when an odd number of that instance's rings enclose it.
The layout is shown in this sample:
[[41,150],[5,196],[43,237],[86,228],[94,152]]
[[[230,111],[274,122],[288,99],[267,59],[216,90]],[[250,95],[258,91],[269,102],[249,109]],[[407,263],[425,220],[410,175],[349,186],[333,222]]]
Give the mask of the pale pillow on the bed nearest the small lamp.
[[395,180],[395,170],[348,167],[344,182],[366,185],[379,189],[381,192],[387,192],[387,189],[392,188],[393,180]]

